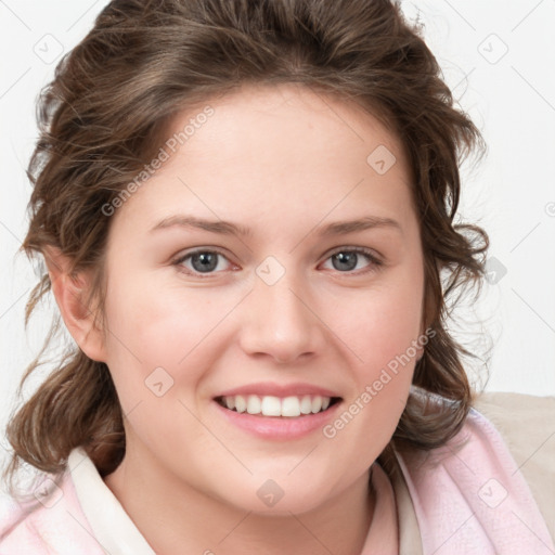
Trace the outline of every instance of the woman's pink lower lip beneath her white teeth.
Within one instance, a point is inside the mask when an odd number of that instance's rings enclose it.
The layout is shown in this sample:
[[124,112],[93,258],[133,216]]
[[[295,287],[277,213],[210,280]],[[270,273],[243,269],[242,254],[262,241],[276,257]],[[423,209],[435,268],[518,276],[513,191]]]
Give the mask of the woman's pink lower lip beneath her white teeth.
[[243,428],[250,434],[263,439],[297,439],[322,429],[335,415],[337,402],[323,412],[307,414],[302,416],[262,416],[260,414],[248,414],[224,409],[220,403],[214,401],[221,414],[228,421]]

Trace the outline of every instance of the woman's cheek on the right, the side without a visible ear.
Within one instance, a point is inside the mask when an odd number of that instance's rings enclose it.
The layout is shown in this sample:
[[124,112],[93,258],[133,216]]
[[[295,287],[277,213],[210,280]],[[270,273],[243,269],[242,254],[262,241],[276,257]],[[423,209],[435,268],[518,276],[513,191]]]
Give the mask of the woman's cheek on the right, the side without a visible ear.
[[349,338],[349,350],[357,354],[351,357],[356,387],[326,437],[340,435],[365,462],[393,435],[421,354],[417,346],[426,343],[421,337],[422,285],[418,271],[403,273],[369,292],[364,302],[353,298],[351,318],[341,321],[338,335]]

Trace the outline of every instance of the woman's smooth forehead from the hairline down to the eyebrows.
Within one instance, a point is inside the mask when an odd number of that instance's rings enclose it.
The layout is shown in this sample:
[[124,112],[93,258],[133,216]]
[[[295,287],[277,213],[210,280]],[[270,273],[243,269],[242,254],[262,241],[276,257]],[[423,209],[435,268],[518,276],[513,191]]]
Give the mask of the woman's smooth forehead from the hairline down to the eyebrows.
[[250,86],[189,108],[162,146],[167,162],[121,210],[149,223],[178,207],[283,222],[369,203],[375,216],[403,218],[411,205],[397,137],[360,106],[304,87]]

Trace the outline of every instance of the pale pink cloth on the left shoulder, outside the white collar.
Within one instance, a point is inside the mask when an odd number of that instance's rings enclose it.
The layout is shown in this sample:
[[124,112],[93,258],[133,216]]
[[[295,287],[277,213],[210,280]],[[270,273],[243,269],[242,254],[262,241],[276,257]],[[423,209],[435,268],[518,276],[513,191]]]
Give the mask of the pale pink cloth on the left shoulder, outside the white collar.
[[0,555],[100,555],[68,473],[43,476],[25,500],[3,496]]

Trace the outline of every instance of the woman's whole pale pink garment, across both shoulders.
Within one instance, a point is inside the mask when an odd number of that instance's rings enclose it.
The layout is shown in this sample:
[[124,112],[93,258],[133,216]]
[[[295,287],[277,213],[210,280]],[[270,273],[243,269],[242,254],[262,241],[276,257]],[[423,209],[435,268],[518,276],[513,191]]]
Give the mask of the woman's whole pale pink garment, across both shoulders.
[[[466,440],[455,451],[454,446]],[[461,433],[431,454],[398,459],[414,504],[424,555],[547,555],[555,553],[545,521],[503,439],[477,411]],[[153,555],[132,520],[82,450],[74,450],[60,488],[0,512],[0,555]],[[377,463],[372,472],[376,520],[361,555],[376,551],[376,530],[396,519],[392,489]],[[33,498],[35,499],[35,498]],[[389,516],[388,516],[389,515]],[[379,525],[379,526],[378,526]],[[399,522],[402,531],[403,522]],[[382,528],[384,527],[384,528]],[[409,554],[402,554],[409,555]]]

